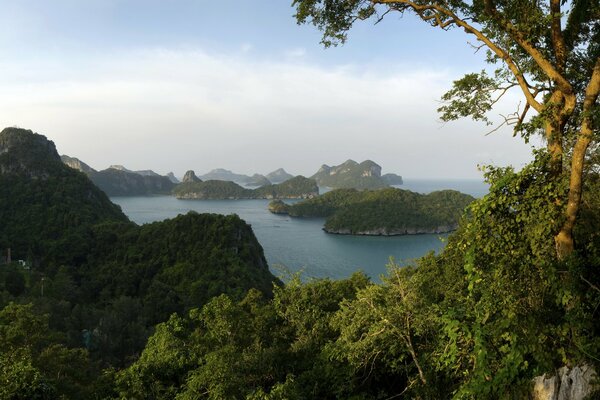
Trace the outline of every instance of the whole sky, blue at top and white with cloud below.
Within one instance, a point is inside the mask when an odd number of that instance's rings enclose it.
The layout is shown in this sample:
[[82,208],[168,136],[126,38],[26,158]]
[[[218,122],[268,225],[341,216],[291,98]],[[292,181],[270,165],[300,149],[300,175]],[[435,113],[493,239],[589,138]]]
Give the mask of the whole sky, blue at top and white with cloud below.
[[389,14],[325,49],[290,4],[0,0],[0,129],[44,134],[96,169],[177,176],[309,176],[371,159],[409,179],[464,179],[531,158],[510,128],[440,121],[452,81],[485,68],[463,32]]

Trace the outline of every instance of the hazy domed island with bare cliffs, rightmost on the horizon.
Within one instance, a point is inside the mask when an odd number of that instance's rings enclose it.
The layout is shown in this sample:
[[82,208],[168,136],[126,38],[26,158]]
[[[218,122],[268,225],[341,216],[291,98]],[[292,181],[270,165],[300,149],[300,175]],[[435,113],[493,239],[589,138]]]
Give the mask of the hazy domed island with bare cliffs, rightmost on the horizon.
[[381,175],[381,166],[371,160],[357,163],[347,160],[340,165],[323,164],[311,178],[319,186],[333,189],[381,189],[401,185],[402,177],[396,174]]

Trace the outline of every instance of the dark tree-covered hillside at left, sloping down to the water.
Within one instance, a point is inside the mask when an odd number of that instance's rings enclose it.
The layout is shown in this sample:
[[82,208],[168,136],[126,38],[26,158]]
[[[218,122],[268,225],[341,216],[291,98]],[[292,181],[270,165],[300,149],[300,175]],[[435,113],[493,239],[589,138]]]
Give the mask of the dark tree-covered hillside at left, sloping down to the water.
[[172,313],[277,282],[239,217],[137,226],[31,131],[0,132],[0,205],[1,398],[99,396]]

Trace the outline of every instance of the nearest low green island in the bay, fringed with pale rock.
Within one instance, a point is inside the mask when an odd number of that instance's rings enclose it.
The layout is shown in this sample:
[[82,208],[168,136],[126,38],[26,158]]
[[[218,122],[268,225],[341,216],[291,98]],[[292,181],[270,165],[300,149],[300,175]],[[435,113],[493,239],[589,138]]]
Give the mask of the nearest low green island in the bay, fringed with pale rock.
[[327,218],[328,233],[393,236],[453,231],[473,200],[455,190],[423,195],[396,188],[337,189],[293,205],[275,200],[268,208],[292,217]]

